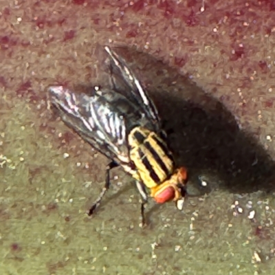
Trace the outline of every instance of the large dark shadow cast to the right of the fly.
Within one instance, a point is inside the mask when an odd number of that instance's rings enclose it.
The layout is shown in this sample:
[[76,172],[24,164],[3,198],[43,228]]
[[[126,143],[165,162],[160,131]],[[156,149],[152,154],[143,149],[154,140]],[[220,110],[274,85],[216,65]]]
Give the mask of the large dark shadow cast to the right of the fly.
[[[273,191],[274,162],[221,102],[153,56],[133,48],[114,50],[146,83],[164,129],[173,130],[168,141],[177,164],[190,172],[188,193],[201,195],[214,188],[238,193]],[[98,82],[106,84],[106,79],[107,74]],[[201,179],[208,182],[207,190],[201,188]]]

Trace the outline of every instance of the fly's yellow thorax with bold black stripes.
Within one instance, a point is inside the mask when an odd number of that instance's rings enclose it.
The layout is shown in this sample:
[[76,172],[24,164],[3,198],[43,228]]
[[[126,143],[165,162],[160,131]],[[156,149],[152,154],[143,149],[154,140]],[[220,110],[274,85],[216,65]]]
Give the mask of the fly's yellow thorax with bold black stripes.
[[137,169],[137,180],[148,188],[162,184],[174,172],[174,161],[164,140],[144,127],[129,133],[130,159]]

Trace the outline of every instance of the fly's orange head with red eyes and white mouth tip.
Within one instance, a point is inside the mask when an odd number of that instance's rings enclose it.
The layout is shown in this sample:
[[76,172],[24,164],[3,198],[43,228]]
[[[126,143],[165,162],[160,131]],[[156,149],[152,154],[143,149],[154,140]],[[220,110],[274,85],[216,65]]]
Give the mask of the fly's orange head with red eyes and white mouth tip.
[[181,167],[175,170],[175,173],[162,184],[151,189],[151,197],[157,203],[165,203],[166,201],[175,201],[179,210],[184,205],[184,196],[186,195],[187,170]]

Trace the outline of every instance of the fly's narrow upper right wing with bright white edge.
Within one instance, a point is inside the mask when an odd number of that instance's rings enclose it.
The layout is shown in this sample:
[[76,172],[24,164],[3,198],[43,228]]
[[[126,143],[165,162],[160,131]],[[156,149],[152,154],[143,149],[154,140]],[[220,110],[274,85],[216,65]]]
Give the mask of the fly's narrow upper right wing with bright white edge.
[[161,122],[155,104],[142,88],[140,81],[137,80],[125,61],[113,52],[110,47],[105,46],[104,50],[109,55],[112,88],[123,94],[133,104],[139,106],[140,111],[146,117],[146,125],[143,126],[148,126],[149,129],[156,132],[161,131]]

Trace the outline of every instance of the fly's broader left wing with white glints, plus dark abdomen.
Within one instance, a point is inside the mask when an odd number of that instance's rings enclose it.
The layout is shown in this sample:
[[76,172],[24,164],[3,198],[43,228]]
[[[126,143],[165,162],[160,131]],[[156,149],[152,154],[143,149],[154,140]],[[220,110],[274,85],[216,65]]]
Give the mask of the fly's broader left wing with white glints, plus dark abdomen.
[[63,86],[52,86],[49,92],[67,126],[110,159],[129,163],[129,129],[143,118],[127,98],[110,90],[74,93]]

